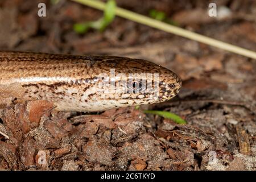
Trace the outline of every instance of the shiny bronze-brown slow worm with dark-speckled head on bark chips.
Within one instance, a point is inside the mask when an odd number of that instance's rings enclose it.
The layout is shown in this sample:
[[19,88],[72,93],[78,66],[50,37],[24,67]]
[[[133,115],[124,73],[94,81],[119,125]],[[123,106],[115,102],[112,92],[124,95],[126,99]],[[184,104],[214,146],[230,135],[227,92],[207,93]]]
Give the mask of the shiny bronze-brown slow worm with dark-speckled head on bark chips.
[[101,111],[167,101],[180,88],[174,72],[146,60],[0,52],[0,102],[48,100],[58,110]]

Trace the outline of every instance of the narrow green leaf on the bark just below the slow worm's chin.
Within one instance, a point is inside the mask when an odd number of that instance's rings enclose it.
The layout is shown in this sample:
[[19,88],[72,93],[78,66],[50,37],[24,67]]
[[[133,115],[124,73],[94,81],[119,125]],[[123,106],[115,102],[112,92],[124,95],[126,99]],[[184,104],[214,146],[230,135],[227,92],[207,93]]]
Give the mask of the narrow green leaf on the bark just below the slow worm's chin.
[[176,115],[174,113],[170,113],[168,111],[144,110],[143,112],[146,113],[146,114],[160,115],[163,118],[171,119],[172,121],[174,121],[177,124],[186,124],[187,123],[184,119],[180,118],[179,115]]

